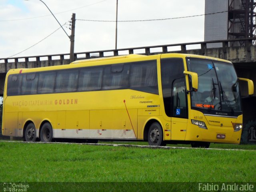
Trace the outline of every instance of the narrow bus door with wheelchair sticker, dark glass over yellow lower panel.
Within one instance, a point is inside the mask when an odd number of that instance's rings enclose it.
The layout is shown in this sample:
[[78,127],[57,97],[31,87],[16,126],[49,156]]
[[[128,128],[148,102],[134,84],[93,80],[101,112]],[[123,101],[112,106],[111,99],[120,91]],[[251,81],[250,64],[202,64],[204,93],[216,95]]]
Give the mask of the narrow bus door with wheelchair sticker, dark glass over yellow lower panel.
[[186,137],[188,122],[186,96],[185,78],[178,78],[174,80],[172,83],[172,140],[185,140]]

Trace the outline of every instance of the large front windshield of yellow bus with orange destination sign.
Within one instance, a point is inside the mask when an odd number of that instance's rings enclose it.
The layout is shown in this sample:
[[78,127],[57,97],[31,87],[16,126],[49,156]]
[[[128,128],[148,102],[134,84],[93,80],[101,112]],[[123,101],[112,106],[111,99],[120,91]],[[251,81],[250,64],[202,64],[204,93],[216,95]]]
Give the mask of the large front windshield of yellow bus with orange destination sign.
[[188,70],[198,74],[198,91],[191,96],[192,108],[241,112],[238,78],[231,63],[187,59]]

